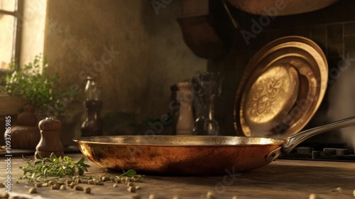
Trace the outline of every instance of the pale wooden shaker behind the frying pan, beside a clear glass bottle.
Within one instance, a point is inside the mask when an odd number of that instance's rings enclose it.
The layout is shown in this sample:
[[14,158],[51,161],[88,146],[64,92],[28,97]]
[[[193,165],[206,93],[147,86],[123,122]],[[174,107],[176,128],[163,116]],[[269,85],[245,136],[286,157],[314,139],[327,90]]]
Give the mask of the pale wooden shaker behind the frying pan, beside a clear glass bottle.
[[192,113],[192,101],[194,93],[192,92],[191,82],[178,83],[178,102],[180,102],[180,112],[176,124],[177,135],[192,135],[195,119]]

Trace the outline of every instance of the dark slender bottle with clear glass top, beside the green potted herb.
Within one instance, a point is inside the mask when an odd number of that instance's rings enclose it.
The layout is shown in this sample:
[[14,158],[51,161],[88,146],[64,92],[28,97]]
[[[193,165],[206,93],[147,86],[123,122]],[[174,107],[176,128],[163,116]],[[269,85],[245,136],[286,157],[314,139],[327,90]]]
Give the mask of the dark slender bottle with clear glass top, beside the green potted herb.
[[82,123],[82,136],[102,135],[102,121],[100,119],[102,109],[101,90],[101,87],[96,85],[94,78],[87,77],[87,85],[85,87],[86,99],[84,102],[87,117]]

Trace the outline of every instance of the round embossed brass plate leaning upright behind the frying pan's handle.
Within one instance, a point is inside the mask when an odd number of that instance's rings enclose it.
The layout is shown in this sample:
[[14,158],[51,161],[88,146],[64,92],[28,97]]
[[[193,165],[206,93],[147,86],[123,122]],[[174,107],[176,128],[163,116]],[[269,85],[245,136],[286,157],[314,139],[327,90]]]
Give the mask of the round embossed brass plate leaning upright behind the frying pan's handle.
[[246,136],[286,138],[317,111],[327,89],[322,49],[301,36],[278,38],[246,66],[236,94],[236,131]]

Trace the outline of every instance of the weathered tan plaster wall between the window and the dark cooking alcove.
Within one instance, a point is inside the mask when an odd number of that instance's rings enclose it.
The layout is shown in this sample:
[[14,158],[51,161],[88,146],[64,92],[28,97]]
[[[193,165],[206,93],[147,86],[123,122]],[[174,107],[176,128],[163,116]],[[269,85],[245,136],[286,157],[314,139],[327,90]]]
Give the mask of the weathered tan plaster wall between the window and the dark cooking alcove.
[[48,1],[48,71],[59,72],[61,87],[81,89],[60,116],[64,144],[80,136],[87,75],[103,87],[104,134],[143,134],[169,112],[170,85],[207,68],[183,42],[179,14],[178,1],[160,9],[146,0]]

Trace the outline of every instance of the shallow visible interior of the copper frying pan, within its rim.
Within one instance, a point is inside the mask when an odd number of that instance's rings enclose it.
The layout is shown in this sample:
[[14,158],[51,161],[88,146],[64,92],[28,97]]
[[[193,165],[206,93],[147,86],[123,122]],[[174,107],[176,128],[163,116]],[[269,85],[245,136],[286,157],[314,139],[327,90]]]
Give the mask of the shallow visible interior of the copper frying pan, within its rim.
[[285,144],[285,139],[244,136],[92,136],[74,139],[79,143],[142,146],[235,146]]

